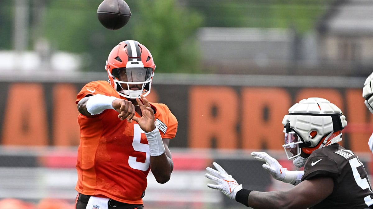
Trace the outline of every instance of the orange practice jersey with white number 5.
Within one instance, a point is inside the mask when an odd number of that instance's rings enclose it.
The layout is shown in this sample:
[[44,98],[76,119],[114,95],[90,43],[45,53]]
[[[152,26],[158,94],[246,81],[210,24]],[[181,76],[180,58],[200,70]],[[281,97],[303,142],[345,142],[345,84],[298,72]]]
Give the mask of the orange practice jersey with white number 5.
[[[94,94],[121,98],[109,82],[95,81],[82,88],[75,103]],[[151,103],[151,106],[162,138],[175,137],[176,117],[164,104]],[[118,114],[112,109],[93,117],[79,114],[78,182],[75,189],[86,195],[142,204],[150,171],[148,141],[135,121],[121,121]],[[137,113],[135,116],[140,117]]]

